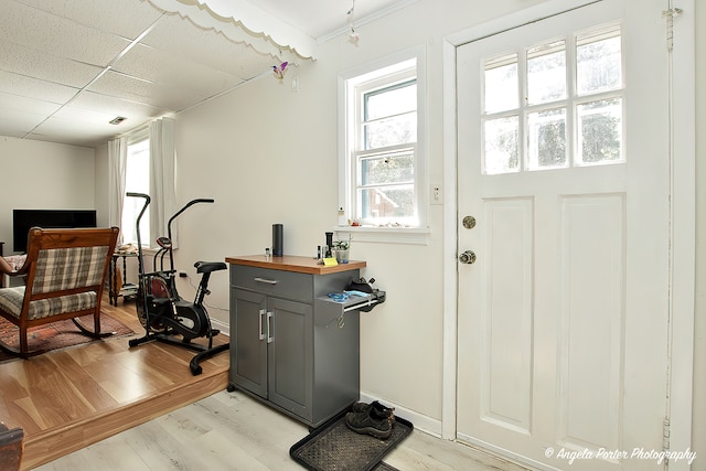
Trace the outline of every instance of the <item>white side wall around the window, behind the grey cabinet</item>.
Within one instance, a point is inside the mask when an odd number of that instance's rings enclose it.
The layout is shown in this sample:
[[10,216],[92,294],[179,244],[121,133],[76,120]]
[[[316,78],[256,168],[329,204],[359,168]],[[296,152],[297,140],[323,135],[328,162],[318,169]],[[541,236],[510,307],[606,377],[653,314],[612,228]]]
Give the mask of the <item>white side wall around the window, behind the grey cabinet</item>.
[[[427,50],[429,180],[442,181],[442,39],[539,1],[422,0],[356,28],[357,46],[336,38],[318,61],[269,75],[176,117],[178,201],[214,197],[182,216],[176,260],[260,254],[271,224],[285,225],[285,253],[315,255],[338,222],[336,79],[350,67],[413,46]],[[292,93],[290,79],[299,76]],[[353,240],[387,302],[362,313],[361,388],[425,417],[440,432],[442,389],[443,206],[430,206],[426,246]],[[188,265],[189,264],[189,265]],[[208,302],[227,307],[226,274],[213,278]],[[226,311],[210,310],[227,321]]]

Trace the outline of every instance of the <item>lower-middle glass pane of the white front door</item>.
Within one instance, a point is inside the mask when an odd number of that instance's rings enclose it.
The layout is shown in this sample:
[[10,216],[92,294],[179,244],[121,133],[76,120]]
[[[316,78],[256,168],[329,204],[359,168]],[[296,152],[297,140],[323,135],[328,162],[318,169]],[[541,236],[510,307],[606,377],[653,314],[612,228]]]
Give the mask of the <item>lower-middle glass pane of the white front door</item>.
[[566,108],[527,115],[527,168],[567,167]]

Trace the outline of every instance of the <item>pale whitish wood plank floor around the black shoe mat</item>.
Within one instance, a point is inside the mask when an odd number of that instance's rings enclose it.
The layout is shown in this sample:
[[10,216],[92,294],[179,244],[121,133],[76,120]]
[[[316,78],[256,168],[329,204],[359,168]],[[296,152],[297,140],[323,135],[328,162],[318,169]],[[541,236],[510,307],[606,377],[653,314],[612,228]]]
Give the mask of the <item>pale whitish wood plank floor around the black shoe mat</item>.
[[[299,471],[303,468],[289,457],[289,448],[308,432],[243,393],[220,392],[38,471]],[[417,430],[385,462],[402,471],[524,469]]]

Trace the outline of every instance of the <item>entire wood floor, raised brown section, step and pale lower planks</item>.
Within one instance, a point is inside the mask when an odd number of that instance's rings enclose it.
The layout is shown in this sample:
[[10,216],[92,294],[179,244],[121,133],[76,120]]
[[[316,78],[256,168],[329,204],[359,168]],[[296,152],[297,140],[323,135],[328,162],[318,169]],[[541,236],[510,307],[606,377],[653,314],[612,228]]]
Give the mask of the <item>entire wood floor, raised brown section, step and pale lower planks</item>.
[[[116,308],[106,298],[104,312],[142,334],[135,304]],[[308,428],[227,393],[227,353],[194,377],[192,352],[161,343],[129,349],[129,338],[0,364],[0,417],[25,430],[22,469],[302,469],[289,448]],[[524,469],[417,430],[385,462],[403,471]]]

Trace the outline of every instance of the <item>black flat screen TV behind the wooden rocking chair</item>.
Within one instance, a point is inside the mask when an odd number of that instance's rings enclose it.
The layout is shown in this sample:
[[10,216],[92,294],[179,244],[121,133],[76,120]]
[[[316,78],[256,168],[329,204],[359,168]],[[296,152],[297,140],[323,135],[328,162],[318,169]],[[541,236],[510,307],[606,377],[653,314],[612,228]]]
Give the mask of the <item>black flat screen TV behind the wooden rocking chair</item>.
[[45,229],[96,227],[96,210],[12,210],[12,248],[26,251],[32,227]]

